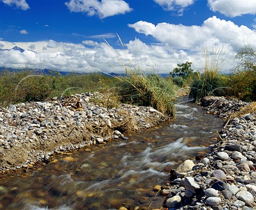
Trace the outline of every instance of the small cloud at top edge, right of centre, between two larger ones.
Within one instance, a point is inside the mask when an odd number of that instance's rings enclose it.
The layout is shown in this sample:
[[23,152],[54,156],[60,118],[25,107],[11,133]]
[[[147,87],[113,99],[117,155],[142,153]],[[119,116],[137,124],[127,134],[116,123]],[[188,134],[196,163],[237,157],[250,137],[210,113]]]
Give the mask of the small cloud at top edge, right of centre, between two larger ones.
[[186,7],[194,4],[194,0],[154,0],[154,2],[162,6],[164,10],[177,10],[179,14],[182,14]]

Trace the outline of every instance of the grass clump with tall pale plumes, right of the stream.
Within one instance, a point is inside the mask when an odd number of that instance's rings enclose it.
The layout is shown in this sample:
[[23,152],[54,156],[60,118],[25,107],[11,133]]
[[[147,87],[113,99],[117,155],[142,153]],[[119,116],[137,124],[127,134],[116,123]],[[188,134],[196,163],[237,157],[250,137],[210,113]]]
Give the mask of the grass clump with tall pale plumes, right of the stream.
[[210,53],[204,49],[204,67],[202,74],[197,72],[190,86],[189,98],[200,102],[207,95],[220,96],[225,94],[227,77],[219,73],[225,66],[227,60],[222,48],[216,47]]

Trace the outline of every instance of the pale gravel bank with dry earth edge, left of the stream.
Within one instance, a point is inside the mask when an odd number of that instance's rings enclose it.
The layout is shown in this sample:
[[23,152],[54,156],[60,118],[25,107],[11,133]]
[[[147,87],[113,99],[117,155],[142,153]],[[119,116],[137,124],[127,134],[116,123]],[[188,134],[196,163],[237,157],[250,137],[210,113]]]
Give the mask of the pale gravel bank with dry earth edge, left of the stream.
[[110,95],[83,93],[47,102],[0,108],[0,172],[48,162],[54,153],[76,150],[125,133],[154,127],[167,118],[150,107],[113,107]]

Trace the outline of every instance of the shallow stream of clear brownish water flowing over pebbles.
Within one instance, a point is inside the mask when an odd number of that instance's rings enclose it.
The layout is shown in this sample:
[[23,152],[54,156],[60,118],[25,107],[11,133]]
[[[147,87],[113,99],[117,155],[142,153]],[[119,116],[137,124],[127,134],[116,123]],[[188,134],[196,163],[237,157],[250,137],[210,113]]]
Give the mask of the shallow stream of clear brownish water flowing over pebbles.
[[169,183],[170,169],[182,161],[209,152],[222,128],[219,118],[193,103],[175,107],[175,120],[129,140],[58,155],[58,161],[0,180],[0,209],[161,208],[164,199],[153,186]]

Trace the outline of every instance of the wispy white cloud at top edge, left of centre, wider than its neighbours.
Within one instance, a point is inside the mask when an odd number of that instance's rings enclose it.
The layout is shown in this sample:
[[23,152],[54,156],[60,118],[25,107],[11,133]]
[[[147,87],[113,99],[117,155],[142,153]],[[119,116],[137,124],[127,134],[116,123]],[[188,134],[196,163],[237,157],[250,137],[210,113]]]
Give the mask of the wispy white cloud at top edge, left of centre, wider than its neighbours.
[[65,4],[71,12],[84,12],[89,16],[98,15],[100,18],[132,11],[129,4],[123,0],[70,0]]

